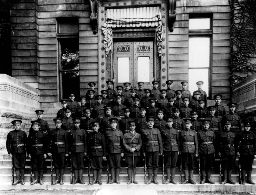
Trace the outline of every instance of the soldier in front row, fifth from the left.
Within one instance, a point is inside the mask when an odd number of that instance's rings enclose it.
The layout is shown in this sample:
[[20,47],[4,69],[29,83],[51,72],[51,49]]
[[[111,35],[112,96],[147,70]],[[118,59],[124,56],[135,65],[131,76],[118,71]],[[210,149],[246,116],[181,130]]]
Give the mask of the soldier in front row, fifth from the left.
[[99,183],[102,185],[101,174],[102,174],[102,161],[106,159],[107,148],[105,136],[99,132],[100,122],[91,122],[93,127],[93,133],[89,135],[89,146],[90,146],[90,157],[91,157],[91,168],[93,181],[91,185]]

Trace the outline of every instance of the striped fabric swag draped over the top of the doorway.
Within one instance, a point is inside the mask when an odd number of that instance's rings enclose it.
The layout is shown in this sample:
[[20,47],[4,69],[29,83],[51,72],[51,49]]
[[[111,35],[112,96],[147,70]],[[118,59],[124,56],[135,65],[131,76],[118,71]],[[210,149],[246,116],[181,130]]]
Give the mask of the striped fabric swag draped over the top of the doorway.
[[129,9],[107,9],[106,22],[102,26],[106,56],[113,41],[112,28],[115,27],[156,27],[156,44],[161,56],[163,22],[160,7],[140,7]]

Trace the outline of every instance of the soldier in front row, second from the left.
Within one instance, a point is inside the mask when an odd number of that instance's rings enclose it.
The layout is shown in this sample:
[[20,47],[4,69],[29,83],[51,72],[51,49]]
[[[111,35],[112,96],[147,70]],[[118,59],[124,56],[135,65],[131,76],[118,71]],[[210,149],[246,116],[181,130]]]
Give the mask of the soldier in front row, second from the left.
[[[31,121],[33,132],[28,135],[28,157],[31,159],[32,169],[35,175],[35,180],[31,184],[44,184],[44,163],[47,153],[47,136],[45,133],[39,131],[41,121]],[[39,172],[39,180],[38,180]]]

